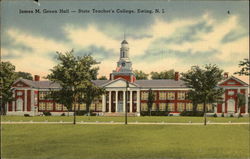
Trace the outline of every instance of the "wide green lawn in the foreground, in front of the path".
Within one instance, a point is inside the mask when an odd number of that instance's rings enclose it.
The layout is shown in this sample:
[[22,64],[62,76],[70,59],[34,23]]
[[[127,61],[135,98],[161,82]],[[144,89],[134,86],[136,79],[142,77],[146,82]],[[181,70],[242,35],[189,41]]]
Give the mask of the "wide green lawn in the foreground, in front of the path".
[[248,158],[249,125],[2,125],[4,158]]

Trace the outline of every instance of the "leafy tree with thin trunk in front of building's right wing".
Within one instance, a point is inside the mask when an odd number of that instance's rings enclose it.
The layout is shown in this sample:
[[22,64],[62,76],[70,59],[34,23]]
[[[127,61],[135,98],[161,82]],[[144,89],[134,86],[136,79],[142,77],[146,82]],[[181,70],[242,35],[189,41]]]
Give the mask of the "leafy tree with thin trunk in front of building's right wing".
[[223,79],[223,70],[216,65],[205,65],[204,68],[193,66],[187,73],[182,73],[182,80],[185,85],[191,88],[188,98],[193,103],[203,103],[204,125],[206,125],[207,104],[215,103],[221,99],[224,93],[222,88],[217,84]]

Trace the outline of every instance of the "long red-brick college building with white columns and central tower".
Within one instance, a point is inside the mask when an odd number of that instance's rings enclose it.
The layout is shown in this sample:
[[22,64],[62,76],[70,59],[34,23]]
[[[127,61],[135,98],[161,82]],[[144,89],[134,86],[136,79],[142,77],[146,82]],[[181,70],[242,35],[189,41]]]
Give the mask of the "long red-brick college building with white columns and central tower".
[[[128,82],[127,82],[128,81]],[[192,102],[185,99],[190,90],[179,79],[179,73],[175,73],[174,79],[168,80],[136,80],[132,71],[132,62],[129,59],[129,45],[126,40],[121,43],[120,59],[117,68],[110,74],[109,80],[94,80],[93,83],[104,87],[106,93],[96,99],[91,110],[100,115],[115,115],[125,112],[127,103],[128,112],[132,115],[140,115],[147,111],[148,91],[152,89],[155,94],[153,111],[168,111],[171,114],[179,114],[182,111],[192,111]],[[128,84],[127,84],[128,83]],[[128,87],[127,87],[128,86]],[[221,114],[237,113],[237,93],[243,93],[246,104],[241,108],[241,113],[248,114],[248,84],[225,73],[225,80],[218,84],[225,89],[223,104],[209,104],[208,112]],[[40,81],[39,76],[35,80],[18,79],[13,84],[13,96],[16,100],[7,104],[7,115],[39,115],[49,111],[54,115],[61,115],[67,108],[55,103],[45,96],[51,89],[60,89],[60,86],[50,81]],[[127,102],[125,101],[128,93]],[[85,104],[79,104],[78,110],[85,110]],[[202,104],[197,107],[203,110]]]

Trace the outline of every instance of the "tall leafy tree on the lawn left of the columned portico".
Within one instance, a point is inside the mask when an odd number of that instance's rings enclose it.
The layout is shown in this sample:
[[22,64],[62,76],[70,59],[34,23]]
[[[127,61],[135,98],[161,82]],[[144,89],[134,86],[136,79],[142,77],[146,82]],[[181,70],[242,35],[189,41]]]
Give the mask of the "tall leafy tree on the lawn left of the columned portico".
[[[65,54],[57,52],[59,64],[51,69],[46,77],[52,82],[58,83],[61,89],[54,91],[53,96],[61,100],[61,104],[67,106],[68,110],[74,110],[74,121],[76,123],[76,105],[86,98],[87,86],[91,87],[91,80],[97,78],[99,64],[91,55],[73,55],[73,50]],[[94,88],[93,88],[94,89]]]

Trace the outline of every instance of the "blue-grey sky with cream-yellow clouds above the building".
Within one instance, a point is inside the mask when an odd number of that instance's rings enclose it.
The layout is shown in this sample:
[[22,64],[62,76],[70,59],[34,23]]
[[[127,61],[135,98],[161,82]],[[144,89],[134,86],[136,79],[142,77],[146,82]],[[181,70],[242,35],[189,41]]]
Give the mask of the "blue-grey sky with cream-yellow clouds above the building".
[[[164,9],[165,13],[20,14],[40,9]],[[228,14],[228,10],[230,14]],[[99,75],[116,67],[124,32],[133,68],[185,72],[193,65],[217,64],[232,74],[249,54],[248,1],[45,1],[1,2],[1,52],[16,70],[45,76],[55,52],[91,53]],[[246,81],[246,78],[241,78]]]

